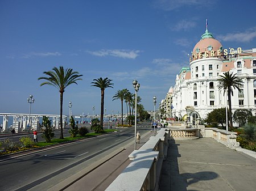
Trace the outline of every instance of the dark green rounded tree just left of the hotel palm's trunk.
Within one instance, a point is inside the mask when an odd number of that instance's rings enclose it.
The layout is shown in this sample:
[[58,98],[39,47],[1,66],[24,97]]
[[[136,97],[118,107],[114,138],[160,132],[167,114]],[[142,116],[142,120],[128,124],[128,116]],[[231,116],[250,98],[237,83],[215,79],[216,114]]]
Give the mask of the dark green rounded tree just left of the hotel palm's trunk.
[[216,123],[217,126],[221,124],[222,128],[224,128],[224,124],[226,123],[226,108],[213,109],[212,112],[207,114],[207,118],[204,121],[212,126],[216,126]]

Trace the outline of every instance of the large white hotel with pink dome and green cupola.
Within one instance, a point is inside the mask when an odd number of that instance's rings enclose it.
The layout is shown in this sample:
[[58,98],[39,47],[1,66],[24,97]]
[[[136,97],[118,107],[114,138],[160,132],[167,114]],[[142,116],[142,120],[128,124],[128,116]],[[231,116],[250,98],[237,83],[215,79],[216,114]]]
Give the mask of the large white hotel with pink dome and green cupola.
[[[224,49],[206,29],[201,40],[193,48],[190,67],[183,67],[176,75],[175,86],[166,97],[167,116],[205,118],[213,109],[227,105],[224,90],[218,90],[219,75],[226,71],[237,74],[244,82],[241,91],[233,90],[232,112],[236,109],[250,109],[256,112],[256,48]],[[170,88],[171,89],[171,88]],[[172,104],[171,104],[172,102]],[[173,107],[170,111],[170,108]],[[187,113],[186,107],[192,109]],[[189,114],[189,116],[186,116]]]

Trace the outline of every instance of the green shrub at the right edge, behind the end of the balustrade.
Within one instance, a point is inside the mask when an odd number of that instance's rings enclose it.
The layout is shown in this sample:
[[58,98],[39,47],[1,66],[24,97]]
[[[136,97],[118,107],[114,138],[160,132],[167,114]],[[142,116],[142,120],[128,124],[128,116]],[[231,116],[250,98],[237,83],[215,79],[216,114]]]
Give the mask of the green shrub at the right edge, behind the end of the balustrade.
[[243,126],[242,137],[245,138],[249,146],[253,146],[256,143],[256,124],[245,124]]

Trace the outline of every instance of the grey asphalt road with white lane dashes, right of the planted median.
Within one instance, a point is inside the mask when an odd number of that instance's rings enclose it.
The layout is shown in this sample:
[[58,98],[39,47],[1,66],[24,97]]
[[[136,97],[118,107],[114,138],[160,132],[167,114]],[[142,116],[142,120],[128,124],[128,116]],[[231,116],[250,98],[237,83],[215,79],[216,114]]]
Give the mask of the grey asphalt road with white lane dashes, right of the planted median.
[[[143,136],[151,127],[150,124],[144,123],[138,125],[137,129]],[[0,190],[28,190],[45,181],[49,181],[48,186],[51,188],[51,184],[57,184],[65,177],[78,172],[80,168],[92,165],[110,150],[116,150],[133,141],[134,128],[122,128],[116,133],[0,162]]]

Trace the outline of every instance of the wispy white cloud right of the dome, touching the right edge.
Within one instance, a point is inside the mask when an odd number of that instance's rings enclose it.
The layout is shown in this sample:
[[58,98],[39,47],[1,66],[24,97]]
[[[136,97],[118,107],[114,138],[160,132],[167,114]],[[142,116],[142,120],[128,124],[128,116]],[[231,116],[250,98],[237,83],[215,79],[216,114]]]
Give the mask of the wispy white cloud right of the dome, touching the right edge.
[[248,43],[256,37],[256,28],[249,29],[245,32],[228,33],[226,35],[219,35],[218,39],[222,41],[237,41],[240,43]]

